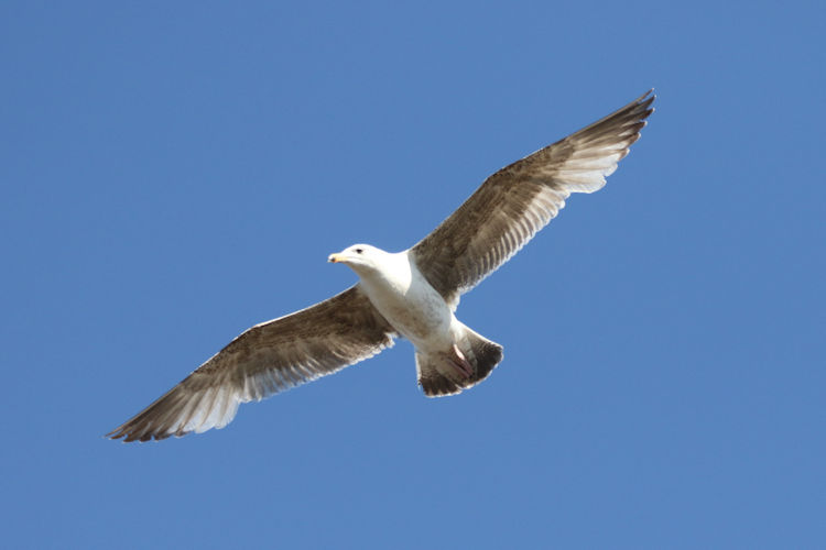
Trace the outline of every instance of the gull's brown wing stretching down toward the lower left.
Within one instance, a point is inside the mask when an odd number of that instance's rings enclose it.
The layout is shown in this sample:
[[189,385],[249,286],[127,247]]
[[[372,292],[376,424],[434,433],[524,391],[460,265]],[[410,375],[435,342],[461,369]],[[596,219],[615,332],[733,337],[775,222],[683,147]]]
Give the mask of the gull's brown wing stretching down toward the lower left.
[[222,428],[238,405],[332,374],[393,345],[395,332],[358,285],[257,324],[107,436],[149,441]]

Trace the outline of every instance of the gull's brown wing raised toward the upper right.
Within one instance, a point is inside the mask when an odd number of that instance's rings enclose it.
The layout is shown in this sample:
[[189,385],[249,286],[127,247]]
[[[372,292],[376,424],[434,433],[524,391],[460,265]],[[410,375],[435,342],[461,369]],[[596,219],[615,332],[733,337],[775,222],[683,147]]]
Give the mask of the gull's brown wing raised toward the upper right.
[[653,112],[652,91],[488,177],[412,249],[431,285],[456,304],[545,227],[572,193],[601,189]]

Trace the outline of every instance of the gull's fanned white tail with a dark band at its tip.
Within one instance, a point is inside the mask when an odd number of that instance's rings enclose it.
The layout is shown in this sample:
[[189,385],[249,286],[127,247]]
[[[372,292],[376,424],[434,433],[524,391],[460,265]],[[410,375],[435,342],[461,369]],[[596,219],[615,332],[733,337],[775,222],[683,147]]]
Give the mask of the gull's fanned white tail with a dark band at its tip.
[[475,386],[490,375],[502,361],[502,346],[465,327],[465,334],[457,342],[465,359],[474,367],[470,376],[464,374],[452,362],[449,351],[422,353],[416,350],[419,384],[427,397],[455,395]]

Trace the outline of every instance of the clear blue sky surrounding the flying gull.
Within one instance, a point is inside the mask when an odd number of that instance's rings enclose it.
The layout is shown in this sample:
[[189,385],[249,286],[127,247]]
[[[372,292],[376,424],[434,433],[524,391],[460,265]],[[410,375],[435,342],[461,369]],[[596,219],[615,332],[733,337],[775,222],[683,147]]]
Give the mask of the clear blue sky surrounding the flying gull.
[[[0,4],[3,546],[826,544],[822,2],[118,3]],[[463,300],[483,384],[423,397],[403,342],[102,439],[651,87]]]

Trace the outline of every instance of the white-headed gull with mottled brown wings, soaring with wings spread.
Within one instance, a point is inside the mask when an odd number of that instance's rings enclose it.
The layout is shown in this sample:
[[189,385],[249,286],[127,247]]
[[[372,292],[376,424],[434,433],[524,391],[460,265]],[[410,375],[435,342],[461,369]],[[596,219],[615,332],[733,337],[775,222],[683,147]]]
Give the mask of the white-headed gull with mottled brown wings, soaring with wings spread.
[[333,374],[406,338],[428,397],[458,394],[502,360],[502,346],[456,318],[459,298],[515,254],[572,193],[594,193],[640,138],[653,90],[489,176],[413,248],[354,244],[329,262],[359,277],[347,290],[256,324],[133,418],[107,433],[162,440],[222,428],[238,405]]

